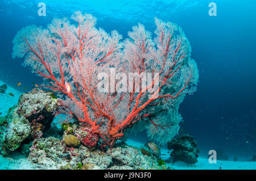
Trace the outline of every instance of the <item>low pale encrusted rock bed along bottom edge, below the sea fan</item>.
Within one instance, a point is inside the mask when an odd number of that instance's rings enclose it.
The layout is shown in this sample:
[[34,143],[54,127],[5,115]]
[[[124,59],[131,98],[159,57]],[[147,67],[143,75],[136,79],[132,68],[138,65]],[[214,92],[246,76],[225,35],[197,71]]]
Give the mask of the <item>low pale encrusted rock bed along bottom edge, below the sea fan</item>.
[[36,169],[151,169],[158,166],[155,157],[143,155],[138,148],[123,146],[90,151],[84,145],[68,147],[54,137],[39,138],[30,148],[28,159]]

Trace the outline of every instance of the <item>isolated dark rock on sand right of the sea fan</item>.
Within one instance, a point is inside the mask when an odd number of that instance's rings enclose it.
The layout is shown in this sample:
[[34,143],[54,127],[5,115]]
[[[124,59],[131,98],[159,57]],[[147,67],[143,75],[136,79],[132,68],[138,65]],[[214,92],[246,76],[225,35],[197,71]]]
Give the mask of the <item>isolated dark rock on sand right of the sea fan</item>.
[[183,136],[179,136],[168,142],[167,148],[172,150],[170,161],[184,161],[187,163],[196,163],[197,157],[199,153],[199,149],[197,149],[196,141],[192,136],[185,134]]

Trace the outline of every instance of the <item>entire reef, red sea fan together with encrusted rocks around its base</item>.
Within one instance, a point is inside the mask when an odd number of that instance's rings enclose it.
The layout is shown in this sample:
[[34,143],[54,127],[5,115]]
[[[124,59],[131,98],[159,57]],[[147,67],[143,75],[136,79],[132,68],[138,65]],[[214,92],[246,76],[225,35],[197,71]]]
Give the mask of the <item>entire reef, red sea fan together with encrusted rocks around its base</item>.
[[[196,91],[199,78],[184,32],[176,24],[155,19],[154,39],[138,24],[129,39],[120,42],[117,31],[97,29],[92,15],[76,11],[71,19],[75,24],[67,18],[53,19],[47,29],[28,26],[14,37],[13,57],[24,58],[24,65],[43,77],[41,87],[61,99],[39,89],[22,94],[2,121],[1,153],[20,147],[36,169],[170,169],[154,142],[145,148],[123,142],[129,129],[138,127],[160,145],[179,131],[179,104]],[[123,77],[150,77],[122,80],[118,87],[114,75],[111,90],[102,91],[99,75],[111,79],[113,71]],[[123,91],[127,82],[129,91]],[[67,118],[62,131],[51,127],[60,113]],[[171,156],[181,152],[185,161],[196,162],[199,150],[190,136],[168,146],[174,148]]]

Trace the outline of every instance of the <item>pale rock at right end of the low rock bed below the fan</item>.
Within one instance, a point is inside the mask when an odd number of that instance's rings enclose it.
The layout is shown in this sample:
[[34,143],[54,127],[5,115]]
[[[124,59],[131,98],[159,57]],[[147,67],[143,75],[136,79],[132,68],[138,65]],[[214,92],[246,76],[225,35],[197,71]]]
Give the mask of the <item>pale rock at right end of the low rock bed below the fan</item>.
[[126,165],[134,169],[148,169],[152,165],[158,165],[154,157],[143,155],[141,150],[131,146],[111,148],[106,153],[112,157],[113,164],[117,166]]

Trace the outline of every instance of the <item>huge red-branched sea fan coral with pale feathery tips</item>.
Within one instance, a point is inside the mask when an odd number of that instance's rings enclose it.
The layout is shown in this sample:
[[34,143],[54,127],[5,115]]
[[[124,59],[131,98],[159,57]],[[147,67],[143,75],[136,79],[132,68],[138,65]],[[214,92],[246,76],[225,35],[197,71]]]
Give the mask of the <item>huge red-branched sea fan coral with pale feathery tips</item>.
[[[154,41],[138,24],[130,39],[121,42],[117,31],[109,35],[97,29],[92,15],[76,11],[71,19],[76,24],[64,18],[53,19],[47,29],[27,26],[13,40],[13,57],[24,57],[24,65],[44,78],[44,87],[63,95],[57,113],[84,122],[102,138],[102,146],[110,148],[134,124],[142,124],[160,144],[170,141],[179,130],[179,104],[196,90],[199,77],[181,28],[155,18]],[[127,82],[131,92],[118,92],[120,82],[115,79],[114,92],[99,92],[97,76],[110,74],[110,68],[126,75],[155,73],[159,81],[154,77],[142,89],[139,78]],[[158,116],[160,112],[168,119]]]

